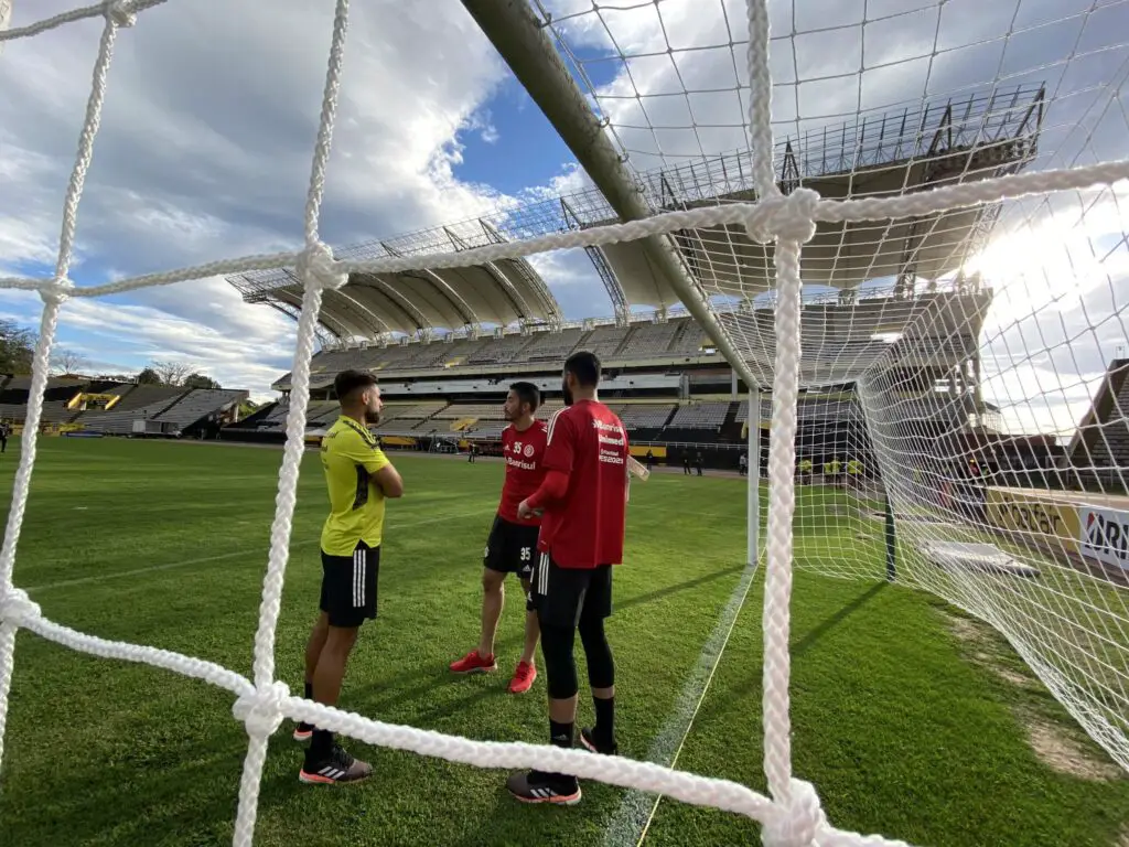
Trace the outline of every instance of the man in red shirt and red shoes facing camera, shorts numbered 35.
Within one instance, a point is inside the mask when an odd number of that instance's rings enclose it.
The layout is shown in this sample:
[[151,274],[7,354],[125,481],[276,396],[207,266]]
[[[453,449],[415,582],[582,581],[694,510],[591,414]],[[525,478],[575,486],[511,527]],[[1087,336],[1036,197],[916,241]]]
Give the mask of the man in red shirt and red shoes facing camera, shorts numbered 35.
[[533,654],[537,649],[541,629],[537,613],[533,611],[530,595],[530,575],[537,549],[541,517],[518,517],[518,505],[540,488],[545,478],[542,459],[545,453],[548,428],[534,414],[541,404],[541,392],[533,383],[514,383],[506,395],[502,413],[509,426],[501,434],[502,455],[506,457],[506,482],[501,488],[501,503],[495,516],[482,569],[482,630],[479,646],[462,658],[450,663],[455,673],[482,673],[498,670],[493,655],[495,632],[505,603],[502,583],[506,574],[517,574],[526,596],[525,649],[517,663],[509,690],[525,693],[537,678]]

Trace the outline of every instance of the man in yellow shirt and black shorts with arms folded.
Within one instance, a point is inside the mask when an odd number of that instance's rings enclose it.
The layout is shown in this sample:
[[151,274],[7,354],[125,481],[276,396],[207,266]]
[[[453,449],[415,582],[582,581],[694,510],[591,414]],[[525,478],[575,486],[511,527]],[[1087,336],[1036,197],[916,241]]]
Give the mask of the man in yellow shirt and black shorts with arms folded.
[[[306,645],[306,698],[335,706],[349,653],[365,620],[376,618],[384,500],[401,497],[403,480],[368,427],[380,420],[380,388],[367,370],[342,370],[333,381],[341,417],[322,438],[330,516],[322,529],[321,614]],[[298,778],[334,784],[365,779],[358,761],[329,730],[301,723],[298,741],[313,737]]]

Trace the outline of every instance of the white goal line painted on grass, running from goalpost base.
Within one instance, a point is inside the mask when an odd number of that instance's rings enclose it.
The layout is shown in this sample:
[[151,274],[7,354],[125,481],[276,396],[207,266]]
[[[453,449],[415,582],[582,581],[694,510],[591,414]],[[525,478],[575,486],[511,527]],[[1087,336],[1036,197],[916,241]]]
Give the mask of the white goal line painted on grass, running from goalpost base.
[[[702,646],[698,662],[686,678],[669,717],[651,742],[646,761],[665,765],[669,768],[677,763],[679,754],[690,736],[691,728],[693,728],[694,718],[706,700],[706,692],[714,681],[714,674],[721,663],[721,654],[725,653],[725,648],[729,644],[729,636],[737,623],[737,615],[745,605],[745,599],[749,596],[749,590],[752,587],[753,577],[760,565],[759,559],[758,556],[758,561],[749,562],[741,573],[741,579]],[[653,798],[648,792],[638,788],[629,791],[623,796],[615,815],[609,822],[607,829],[604,830],[605,847],[638,847],[641,845],[662,800],[662,794]]]

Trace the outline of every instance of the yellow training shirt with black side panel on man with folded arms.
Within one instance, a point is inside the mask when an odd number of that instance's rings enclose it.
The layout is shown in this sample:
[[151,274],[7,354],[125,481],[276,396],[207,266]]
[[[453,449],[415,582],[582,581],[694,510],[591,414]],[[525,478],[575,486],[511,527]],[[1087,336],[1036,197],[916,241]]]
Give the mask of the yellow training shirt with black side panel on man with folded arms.
[[388,464],[373,434],[344,414],[322,438],[322,468],[330,490],[330,516],[322,529],[326,553],[352,556],[360,541],[379,547],[384,491],[376,473]]

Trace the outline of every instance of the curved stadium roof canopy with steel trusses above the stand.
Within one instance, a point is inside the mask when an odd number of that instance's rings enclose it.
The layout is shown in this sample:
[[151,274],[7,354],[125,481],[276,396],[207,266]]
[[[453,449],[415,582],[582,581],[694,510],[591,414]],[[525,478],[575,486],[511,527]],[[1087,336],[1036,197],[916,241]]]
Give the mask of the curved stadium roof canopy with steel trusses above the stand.
[[[1043,98],[1042,86],[1019,86],[863,113],[779,142],[777,177],[785,193],[804,185],[826,198],[858,198],[1013,173],[1036,152]],[[702,157],[631,178],[650,215],[756,199],[747,151]],[[849,289],[889,277],[912,289],[917,278],[936,280],[957,272],[981,248],[999,210],[999,204],[984,204],[896,221],[820,224],[804,246],[800,272],[808,285]],[[589,189],[336,255],[367,260],[449,253],[621,220],[604,194]],[[752,242],[739,227],[686,229],[663,238],[683,271],[714,295],[749,299],[773,287],[771,245]],[[669,267],[656,264],[654,244],[647,239],[585,251],[621,323],[633,306],[665,312],[680,303]],[[301,286],[292,269],[229,281],[248,303],[268,303],[297,316]],[[325,292],[321,315],[322,330],[338,339],[561,322],[555,298],[525,260],[457,270],[353,273],[342,289]]]

